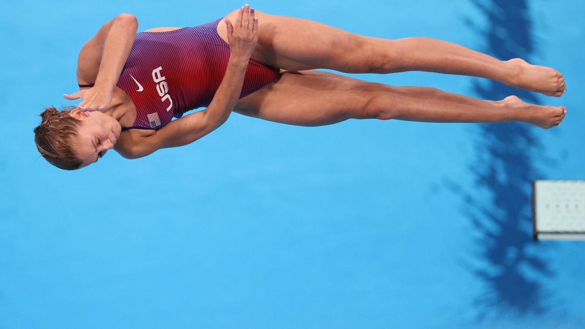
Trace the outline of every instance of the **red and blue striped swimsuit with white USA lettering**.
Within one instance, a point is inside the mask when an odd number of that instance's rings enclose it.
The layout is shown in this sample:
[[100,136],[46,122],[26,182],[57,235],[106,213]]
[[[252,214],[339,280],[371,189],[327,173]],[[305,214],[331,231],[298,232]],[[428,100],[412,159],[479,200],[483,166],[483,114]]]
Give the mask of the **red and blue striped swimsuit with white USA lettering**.
[[[219,87],[230,56],[229,44],[214,22],[166,32],[140,32],[116,86],[136,107],[132,127],[159,129],[185,112],[208,107]],[[276,80],[279,69],[250,59],[242,93],[252,94]],[[92,87],[93,84],[80,85]]]

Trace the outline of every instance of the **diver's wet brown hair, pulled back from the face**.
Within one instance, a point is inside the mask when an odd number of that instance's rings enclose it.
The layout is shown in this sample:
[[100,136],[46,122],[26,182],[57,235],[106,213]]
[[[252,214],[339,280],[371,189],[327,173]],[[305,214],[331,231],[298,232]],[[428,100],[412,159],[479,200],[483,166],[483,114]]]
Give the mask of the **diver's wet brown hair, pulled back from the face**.
[[79,169],[82,161],[73,151],[73,141],[77,137],[77,129],[81,120],[69,115],[74,106],[66,106],[57,111],[47,107],[40,116],[40,123],[35,132],[35,143],[40,154],[51,165],[65,170]]

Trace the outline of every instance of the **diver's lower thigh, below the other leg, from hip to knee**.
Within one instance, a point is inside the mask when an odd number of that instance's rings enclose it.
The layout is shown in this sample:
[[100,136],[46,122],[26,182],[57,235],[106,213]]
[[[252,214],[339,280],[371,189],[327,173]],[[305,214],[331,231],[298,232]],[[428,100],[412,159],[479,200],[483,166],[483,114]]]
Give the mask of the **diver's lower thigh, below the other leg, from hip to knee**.
[[322,71],[285,71],[279,80],[240,98],[234,112],[298,126],[376,118],[367,105],[389,86]]

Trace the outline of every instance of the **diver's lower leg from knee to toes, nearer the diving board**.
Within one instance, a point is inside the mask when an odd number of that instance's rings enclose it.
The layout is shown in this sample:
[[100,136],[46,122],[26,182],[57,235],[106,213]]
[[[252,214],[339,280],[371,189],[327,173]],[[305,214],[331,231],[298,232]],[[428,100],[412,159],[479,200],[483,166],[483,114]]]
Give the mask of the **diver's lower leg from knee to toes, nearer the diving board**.
[[534,105],[511,96],[501,101],[479,100],[427,87],[388,87],[370,102],[378,119],[421,122],[522,121],[550,128],[564,118],[564,107]]

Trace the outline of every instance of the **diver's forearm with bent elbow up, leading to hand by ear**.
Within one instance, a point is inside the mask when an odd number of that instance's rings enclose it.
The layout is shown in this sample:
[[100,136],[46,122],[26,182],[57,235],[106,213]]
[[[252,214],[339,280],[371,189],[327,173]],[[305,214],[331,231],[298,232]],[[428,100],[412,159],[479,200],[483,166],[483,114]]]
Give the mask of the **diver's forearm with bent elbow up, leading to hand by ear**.
[[113,20],[105,39],[98,76],[95,79],[97,87],[112,91],[118,83],[122,68],[132,49],[137,29],[138,21],[132,15],[122,14]]

